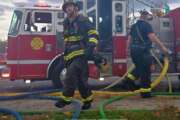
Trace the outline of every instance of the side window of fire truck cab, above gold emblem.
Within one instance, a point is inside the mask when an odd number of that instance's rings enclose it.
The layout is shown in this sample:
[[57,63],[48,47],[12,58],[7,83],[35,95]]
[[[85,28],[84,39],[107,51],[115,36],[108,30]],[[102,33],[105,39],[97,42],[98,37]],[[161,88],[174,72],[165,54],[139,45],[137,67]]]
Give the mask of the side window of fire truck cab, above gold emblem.
[[52,31],[52,15],[51,13],[35,12],[34,20],[32,20],[31,13],[28,13],[25,31],[31,32],[51,32]]

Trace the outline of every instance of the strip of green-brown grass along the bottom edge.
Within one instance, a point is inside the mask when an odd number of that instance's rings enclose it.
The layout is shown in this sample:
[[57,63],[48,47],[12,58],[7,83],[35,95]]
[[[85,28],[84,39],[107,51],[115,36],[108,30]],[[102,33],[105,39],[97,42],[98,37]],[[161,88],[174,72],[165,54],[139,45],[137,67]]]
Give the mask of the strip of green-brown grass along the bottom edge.
[[[21,112],[23,120],[69,120],[71,112]],[[5,117],[4,117],[5,116]],[[180,110],[167,106],[160,110],[107,110],[108,120],[180,120]],[[101,119],[98,110],[82,111],[79,120]],[[0,120],[14,120],[12,117],[0,114]]]

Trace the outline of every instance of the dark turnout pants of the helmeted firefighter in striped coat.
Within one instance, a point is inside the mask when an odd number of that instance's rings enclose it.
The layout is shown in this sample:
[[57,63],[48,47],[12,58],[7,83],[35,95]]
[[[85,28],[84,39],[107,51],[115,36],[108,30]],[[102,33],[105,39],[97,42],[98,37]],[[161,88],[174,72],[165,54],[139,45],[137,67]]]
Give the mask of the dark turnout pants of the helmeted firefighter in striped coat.
[[67,65],[67,74],[64,81],[63,96],[73,97],[78,88],[83,99],[92,95],[88,85],[88,62],[84,57],[76,57]]

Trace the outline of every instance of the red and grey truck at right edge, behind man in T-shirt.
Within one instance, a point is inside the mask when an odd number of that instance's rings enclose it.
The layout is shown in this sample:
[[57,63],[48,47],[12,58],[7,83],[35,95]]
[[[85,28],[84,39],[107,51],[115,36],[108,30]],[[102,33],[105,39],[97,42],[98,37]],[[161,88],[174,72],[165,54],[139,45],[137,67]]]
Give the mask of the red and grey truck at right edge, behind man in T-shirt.
[[[169,72],[179,76],[180,73],[180,8],[171,10],[162,17],[154,16],[150,22],[154,32],[172,51]],[[180,77],[180,76],[179,76]]]

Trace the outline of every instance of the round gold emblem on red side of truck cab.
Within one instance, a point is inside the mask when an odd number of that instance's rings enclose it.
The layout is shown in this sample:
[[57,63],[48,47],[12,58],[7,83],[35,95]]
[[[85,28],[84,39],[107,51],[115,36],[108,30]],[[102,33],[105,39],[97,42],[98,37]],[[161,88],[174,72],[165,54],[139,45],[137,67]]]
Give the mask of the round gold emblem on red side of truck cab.
[[44,46],[44,42],[40,37],[34,37],[31,41],[31,47],[33,50],[40,50]]

